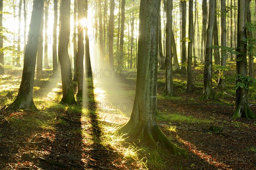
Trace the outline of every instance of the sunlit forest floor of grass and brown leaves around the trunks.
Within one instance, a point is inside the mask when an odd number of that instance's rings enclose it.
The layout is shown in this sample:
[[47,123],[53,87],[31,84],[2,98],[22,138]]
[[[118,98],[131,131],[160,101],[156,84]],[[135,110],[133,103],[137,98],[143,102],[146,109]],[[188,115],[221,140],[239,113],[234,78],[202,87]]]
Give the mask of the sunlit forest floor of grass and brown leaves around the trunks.
[[[141,139],[117,135],[116,129],[128,121],[134,101],[136,76],[129,70],[129,76],[87,79],[87,97],[77,106],[58,104],[58,75],[36,79],[34,101],[39,111],[0,111],[0,169],[256,170],[256,121],[230,118],[235,103],[235,64],[228,64],[226,93],[219,92],[207,101],[200,99],[202,65],[193,67],[193,82],[198,87],[193,94],[184,92],[186,76],[175,74],[175,96],[162,96],[165,73],[158,72],[158,125],[173,143],[188,151],[189,159],[174,156],[161,146],[152,148]],[[17,95],[19,75],[0,77],[1,108]],[[10,91],[14,93],[8,94]],[[255,87],[249,92],[256,113]]]

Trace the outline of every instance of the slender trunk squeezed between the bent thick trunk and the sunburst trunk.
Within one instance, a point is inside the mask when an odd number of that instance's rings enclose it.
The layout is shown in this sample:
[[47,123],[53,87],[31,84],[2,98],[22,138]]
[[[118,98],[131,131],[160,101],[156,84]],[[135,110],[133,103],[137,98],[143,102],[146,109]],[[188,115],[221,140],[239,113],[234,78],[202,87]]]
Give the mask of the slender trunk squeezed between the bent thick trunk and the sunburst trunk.
[[74,20],[74,32],[73,32],[73,51],[74,51],[74,78],[73,81],[77,81],[77,66],[76,66],[76,60],[77,60],[77,0],[74,0],[74,14],[73,14],[73,20]]

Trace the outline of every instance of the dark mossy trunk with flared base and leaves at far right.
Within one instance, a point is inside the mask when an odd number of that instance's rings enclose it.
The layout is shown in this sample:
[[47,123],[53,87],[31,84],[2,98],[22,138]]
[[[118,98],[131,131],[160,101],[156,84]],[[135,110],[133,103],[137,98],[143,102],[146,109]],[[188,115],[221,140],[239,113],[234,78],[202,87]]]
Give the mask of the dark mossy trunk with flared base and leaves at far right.
[[238,1],[238,17],[237,17],[237,55],[236,60],[236,73],[238,79],[236,83],[243,83],[245,87],[239,86],[236,88],[236,107],[233,111],[232,118],[244,117],[246,119],[256,119],[256,115],[250,109],[248,102],[248,84],[244,79],[247,77],[247,43],[244,42],[246,37],[246,3],[247,0]]

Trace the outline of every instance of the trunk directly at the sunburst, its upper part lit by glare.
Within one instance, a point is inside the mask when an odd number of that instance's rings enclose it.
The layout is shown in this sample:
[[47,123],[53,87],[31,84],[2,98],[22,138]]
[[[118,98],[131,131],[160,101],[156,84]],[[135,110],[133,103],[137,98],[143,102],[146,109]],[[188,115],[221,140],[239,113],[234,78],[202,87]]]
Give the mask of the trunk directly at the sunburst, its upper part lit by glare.
[[[77,1],[78,20],[81,21],[85,17],[84,0]],[[81,99],[83,94],[83,80],[84,80],[84,27],[81,22],[78,22],[78,41],[77,41],[77,58],[76,58],[76,77],[78,91],[77,99]]]

